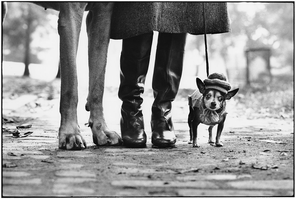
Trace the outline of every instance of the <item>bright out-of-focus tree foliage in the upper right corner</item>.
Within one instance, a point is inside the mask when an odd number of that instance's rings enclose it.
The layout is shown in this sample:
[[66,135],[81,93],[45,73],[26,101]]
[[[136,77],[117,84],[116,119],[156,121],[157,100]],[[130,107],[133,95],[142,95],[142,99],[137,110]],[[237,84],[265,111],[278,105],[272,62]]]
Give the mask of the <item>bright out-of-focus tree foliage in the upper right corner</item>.
[[294,53],[294,5],[278,2],[228,3],[231,18],[231,34],[222,34],[222,39],[233,45],[246,38],[245,48],[267,47],[281,65],[293,66]]

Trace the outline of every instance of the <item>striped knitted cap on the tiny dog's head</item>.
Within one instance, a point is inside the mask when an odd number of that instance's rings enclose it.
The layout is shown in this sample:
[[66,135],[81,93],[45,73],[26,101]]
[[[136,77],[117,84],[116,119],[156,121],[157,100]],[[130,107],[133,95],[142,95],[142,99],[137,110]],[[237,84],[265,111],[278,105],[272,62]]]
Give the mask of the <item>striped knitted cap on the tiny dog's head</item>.
[[231,84],[227,82],[226,76],[222,73],[210,74],[204,80],[205,89],[217,89],[225,94],[231,89]]

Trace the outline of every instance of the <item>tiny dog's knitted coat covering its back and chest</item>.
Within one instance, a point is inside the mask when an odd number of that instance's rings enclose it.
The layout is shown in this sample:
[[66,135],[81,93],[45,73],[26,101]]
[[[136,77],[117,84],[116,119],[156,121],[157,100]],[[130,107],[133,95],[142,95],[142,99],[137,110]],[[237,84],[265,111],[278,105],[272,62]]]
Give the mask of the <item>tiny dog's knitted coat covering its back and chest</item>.
[[[217,113],[216,111],[212,111],[215,112],[215,114],[218,115],[218,117],[220,118],[221,115],[223,114],[227,114],[226,112],[226,102],[224,102],[224,106],[223,109],[221,110],[221,112]],[[199,108],[199,111],[202,115],[202,113],[204,112],[205,109],[207,109],[204,105],[204,103],[202,103],[202,94],[200,93],[199,90],[194,91],[194,93],[192,95],[188,95],[188,105],[191,106],[192,108],[197,107]],[[209,126],[215,126],[216,124],[218,124],[218,122],[211,122],[211,123],[207,123],[202,121],[202,117],[201,119],[201,123],[209,125]]]

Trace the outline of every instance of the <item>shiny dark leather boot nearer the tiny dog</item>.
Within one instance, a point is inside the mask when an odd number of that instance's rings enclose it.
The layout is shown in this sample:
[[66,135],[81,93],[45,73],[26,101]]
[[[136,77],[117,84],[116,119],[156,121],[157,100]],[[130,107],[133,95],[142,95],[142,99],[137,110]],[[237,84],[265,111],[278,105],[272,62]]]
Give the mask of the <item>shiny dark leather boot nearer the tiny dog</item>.
[[152,78],[152,144],[175,147],[176,136],[171,119],[172,101],[177,95],[183,69],[187,33],[159,33]]

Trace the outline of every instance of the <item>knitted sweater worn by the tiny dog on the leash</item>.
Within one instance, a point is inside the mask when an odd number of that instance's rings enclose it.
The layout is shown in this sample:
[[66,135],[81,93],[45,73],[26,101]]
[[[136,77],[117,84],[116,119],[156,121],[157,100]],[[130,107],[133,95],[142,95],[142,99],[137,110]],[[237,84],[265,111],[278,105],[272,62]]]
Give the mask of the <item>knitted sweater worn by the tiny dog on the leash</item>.
[[203,101],[202,94],[200,93],[199,90],[194,91],[192,95],[188,95],[188,105],[191,106],[192,108],[197,107],[200,110],[200,121],[203,124],[209,125],[209,126],[215,126],[218,124],[218,121],[216,122],[208,122],[210,121],[209,117],[216,116],[218,119],[221,117],[223,114],[227,114],[226,112],[226,102],[224,101],[223,109],[221,112],[217,113],[215,110],[211,111],[207,109],[205,106],[205,102]]

